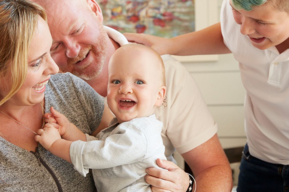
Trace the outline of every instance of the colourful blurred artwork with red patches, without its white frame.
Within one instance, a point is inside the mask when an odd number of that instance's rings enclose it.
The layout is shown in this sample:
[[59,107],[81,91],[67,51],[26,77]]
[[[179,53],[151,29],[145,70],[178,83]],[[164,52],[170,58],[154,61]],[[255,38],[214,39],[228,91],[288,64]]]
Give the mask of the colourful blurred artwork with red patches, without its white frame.
[[174,37],[194,31],[194,0],[100,0],[103,24],[121,33]]

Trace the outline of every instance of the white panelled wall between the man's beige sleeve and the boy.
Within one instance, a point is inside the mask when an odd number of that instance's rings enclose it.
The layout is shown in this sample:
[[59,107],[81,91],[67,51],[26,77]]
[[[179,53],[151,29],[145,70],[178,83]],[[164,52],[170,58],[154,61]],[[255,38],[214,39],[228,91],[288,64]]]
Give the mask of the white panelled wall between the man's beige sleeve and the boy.
[[[222,0],[218,0],[218,15]],[[223,148],[246,144],[244,132],[245,89],[240,79],[238,62],[232,54],[218,56],[216,61],[184,63],[218,124],[218,137]],[[179,155],[175,155],[179,159]],[[181,163],[181,159],[178,160]],[[179,164],[182,166],[182,163]]]

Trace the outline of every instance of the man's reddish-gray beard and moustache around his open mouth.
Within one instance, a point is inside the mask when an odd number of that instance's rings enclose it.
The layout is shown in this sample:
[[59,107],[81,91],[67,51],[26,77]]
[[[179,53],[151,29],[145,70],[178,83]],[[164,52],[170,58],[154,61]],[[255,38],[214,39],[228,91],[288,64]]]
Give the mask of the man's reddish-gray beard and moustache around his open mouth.
[[[84,80],[91,80],[101,74],[106,59],[107,44],[105,40],[106,32],[104,28],[101,27],[99,30],[100,35],[97,39],[97,45],[82,47],[77,57],[68,58],[68,67],[61,68],[60,72],[71,72],[72,74]],[[92,56],[94,58],[93,63],[86,63],[86,65],[83,67],[76,67],[75,65],[77,64],[75,63],[84,59],[88,53],[93,54],[90,55],[90,57]]]

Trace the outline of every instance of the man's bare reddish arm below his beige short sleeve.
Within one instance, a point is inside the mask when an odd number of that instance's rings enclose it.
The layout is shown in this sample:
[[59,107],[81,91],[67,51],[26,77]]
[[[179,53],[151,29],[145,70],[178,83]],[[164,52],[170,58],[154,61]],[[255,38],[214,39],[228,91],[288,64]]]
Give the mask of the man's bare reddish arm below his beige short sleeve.
[[226,192],[233,187],[232,172],[215,134],[210,140],[182,154],[197,182],[197,192]]

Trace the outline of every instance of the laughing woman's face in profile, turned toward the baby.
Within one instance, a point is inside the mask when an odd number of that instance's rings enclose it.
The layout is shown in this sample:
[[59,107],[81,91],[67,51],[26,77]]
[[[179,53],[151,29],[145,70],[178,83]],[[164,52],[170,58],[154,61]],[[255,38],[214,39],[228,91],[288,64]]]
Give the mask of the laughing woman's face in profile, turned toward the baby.
[[7,102],[16,106],[31,106],[44,99],[45,85],[59,68],[50,56],[52,38],[45,20],[38,17],[28,49],[27,77],[19,91]]

